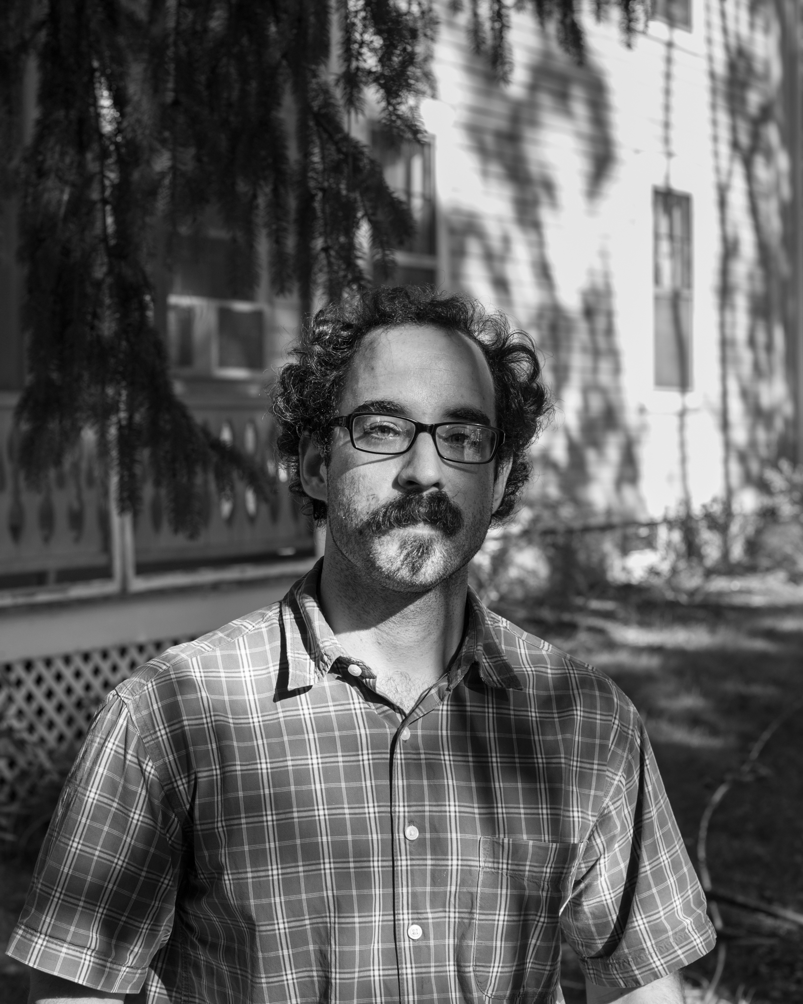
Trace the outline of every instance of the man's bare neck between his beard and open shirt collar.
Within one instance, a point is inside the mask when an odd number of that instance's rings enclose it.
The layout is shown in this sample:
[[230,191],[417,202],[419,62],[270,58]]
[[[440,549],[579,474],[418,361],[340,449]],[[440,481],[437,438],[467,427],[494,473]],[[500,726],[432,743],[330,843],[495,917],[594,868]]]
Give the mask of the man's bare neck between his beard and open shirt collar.
[[421,684],[419,693],[430,687],[463,637],[466,568],[428,592],[395,592],[363,579],[327,542],[319,589],[327,623],[348,655],[376,674],[380,691],[382,679],[392,678],[414,688]]

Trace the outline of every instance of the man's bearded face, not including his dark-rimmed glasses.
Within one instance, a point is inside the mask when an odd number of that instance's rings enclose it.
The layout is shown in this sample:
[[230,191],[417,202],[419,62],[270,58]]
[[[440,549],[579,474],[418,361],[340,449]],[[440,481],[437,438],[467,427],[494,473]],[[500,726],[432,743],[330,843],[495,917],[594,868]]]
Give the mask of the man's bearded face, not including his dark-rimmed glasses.
[[[406,325],[366,335],[338,414],[374,411],[431,424],[495,425],[494,386],[466,335]],[[322,470],[332,543],[362,576],[401,592],[433,588],[480,548],[508,468],[443,460],[421,433],[405,454],[363,453],[335,428]]]

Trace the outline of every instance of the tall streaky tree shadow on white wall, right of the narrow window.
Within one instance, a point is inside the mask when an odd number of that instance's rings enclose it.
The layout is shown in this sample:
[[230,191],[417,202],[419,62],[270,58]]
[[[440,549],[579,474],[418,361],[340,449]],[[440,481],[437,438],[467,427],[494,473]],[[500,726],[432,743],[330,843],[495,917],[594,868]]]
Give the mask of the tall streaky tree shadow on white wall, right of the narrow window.
[[720,227],[720,408],[729,478],[747,484],[760,482],[764,465],[794,442],[792,263],[800,222],[789,183],[789,60],[797,56],[785,44],[794,30],[788,10],[782,0],[706,3]]

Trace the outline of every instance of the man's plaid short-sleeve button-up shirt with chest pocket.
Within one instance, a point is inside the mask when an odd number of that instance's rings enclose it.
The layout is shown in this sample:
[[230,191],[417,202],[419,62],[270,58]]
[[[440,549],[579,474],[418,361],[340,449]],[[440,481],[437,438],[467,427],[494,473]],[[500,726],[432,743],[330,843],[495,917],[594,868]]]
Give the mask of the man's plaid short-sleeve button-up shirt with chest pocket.
[[470,594],[405,716],[335,640],[318,574],[112,692],[11,956],[143,1002],[552,1004],[561,929],[619,987],[713,947],[610,680]]

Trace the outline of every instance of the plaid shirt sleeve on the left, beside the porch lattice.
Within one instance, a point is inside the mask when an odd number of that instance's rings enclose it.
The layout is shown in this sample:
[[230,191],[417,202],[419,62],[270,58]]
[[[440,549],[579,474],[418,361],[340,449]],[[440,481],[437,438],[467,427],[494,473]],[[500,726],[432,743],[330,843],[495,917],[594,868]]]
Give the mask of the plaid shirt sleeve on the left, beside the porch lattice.
[[136,993],[168,940],[181,830],[116,694],[67,778],[7,949],[34,969]]

